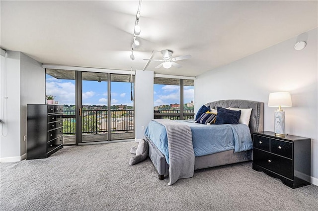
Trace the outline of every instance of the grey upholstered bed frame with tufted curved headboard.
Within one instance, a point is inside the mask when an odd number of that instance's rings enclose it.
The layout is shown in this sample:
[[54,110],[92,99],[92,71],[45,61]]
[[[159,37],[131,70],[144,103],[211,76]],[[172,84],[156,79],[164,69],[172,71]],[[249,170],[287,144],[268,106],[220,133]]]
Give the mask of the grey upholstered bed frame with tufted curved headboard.
[[[252,132],[263,131],[264,104],[262,102],[246,100],[221,100],[207,103],[205,106],[210,106],[211,108],[215,109],[217,106],[223,108],[252,108],[248,125],[250,132],[249,135],[251,135]],[[148,142],[149,146],[149,158],[152,160],[155,169],[158,171],[159,179],[163,180],[165,175],[169,175],[169,164],[165,156],[160,152],[149,136],[149,134],[145,134],[145,140]],[[226,150],[204,156],[195,156],[194,170],[243,162],[251,159],[251,149],[236,153],[234,152],[234,149]]]

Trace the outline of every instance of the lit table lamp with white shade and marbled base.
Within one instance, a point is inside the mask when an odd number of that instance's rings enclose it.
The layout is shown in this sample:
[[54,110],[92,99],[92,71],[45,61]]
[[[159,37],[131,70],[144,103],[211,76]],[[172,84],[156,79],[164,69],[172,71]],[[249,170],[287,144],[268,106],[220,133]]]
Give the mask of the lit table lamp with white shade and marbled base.
[[285,111],[281,107],[292,106],[292,98],[289,92],[274,92],[269,94],[268,106],[278,107],[275,110],[275,136],[286,136],[285,133]]

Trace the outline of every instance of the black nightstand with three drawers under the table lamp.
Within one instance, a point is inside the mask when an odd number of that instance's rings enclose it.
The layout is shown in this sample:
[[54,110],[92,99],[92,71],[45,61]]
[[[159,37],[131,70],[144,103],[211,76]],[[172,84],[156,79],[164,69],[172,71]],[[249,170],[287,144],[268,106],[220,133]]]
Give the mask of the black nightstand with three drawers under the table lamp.
[[253,169],[279,178],[291,187],[310,185],[311,139],[274,132],[253,133]]

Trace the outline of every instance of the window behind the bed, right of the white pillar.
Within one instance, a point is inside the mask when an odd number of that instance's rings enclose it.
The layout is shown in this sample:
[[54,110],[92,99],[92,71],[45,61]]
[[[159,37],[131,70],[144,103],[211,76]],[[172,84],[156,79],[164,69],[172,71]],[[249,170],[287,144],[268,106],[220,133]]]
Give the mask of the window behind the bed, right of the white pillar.
[[154,118],[194,119],[194,80],[154,78]]

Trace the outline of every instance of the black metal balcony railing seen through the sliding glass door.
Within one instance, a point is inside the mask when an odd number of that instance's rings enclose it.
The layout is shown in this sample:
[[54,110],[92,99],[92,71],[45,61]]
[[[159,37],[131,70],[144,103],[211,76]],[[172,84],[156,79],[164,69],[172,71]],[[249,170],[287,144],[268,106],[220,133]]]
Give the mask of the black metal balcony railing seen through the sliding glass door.
[[[82,133],[98,134],[134,130],[134,110],[111,110],[111,125],[108,126],[107,110],[82,110]],[[75,110],[64,111],[63,134],[76,131]]]

